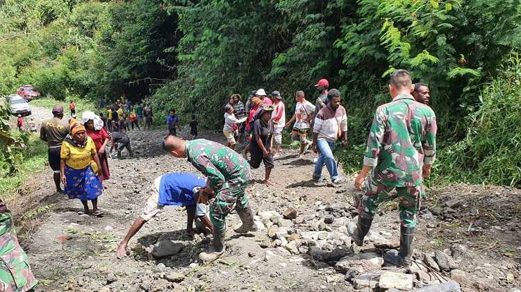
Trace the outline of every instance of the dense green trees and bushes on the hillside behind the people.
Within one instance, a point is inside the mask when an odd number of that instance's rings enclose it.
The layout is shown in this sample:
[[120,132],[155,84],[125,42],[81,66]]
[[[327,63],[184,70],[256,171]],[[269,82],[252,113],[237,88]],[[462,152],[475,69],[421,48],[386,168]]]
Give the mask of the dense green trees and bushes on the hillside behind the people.
[[[147,98],[165,115],[222,125],[238,92],[308,99],[328,78],[349,112],[347,170],[397,68],[428,83],[440,128],[436,178],[520,184],[521,8],[517,0],[6,0],[0,94],[31,83],[53,98]],[[505,114],[508,109],[511,114]],[[160,121],[161,123],[163,121]],[[443,163],[442,163],[443,162]]]

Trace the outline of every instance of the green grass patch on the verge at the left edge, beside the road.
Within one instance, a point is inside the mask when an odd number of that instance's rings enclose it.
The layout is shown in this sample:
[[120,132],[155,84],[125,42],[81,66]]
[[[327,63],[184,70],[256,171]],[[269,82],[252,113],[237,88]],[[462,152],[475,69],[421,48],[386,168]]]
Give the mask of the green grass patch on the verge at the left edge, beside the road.
[[[19,133],[12,131],[13,136]],[[0,189],[3,191],[3,200],[13,200],[19,196],[17,188],[36,172],[44,169],[47,162],[47,144],[40,140],[38,135],[30,135],[27,148],[22,152],[23,160],[14,175],[6,175],[0,178]]]

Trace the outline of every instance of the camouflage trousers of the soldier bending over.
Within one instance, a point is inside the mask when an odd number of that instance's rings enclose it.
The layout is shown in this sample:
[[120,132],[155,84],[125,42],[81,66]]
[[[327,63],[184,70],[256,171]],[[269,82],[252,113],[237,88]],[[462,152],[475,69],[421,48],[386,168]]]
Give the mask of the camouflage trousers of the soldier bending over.
[[245,188],[249,181],[229,180],[228,188],[217,192],[213,204],[210,206],[210,221],[215,230],[224,230],[226,227],[226,216],[233,210],[246,209],[249,206]]

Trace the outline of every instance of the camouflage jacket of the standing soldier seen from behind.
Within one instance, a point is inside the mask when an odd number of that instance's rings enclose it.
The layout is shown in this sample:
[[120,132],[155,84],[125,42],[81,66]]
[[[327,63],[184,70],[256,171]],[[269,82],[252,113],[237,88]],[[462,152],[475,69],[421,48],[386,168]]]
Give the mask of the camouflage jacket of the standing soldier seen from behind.
[[436,116],[428,105],[402,94],[374,114],[363,164],[378,182],[393,187],[422,184],[423,164],[436,157]]

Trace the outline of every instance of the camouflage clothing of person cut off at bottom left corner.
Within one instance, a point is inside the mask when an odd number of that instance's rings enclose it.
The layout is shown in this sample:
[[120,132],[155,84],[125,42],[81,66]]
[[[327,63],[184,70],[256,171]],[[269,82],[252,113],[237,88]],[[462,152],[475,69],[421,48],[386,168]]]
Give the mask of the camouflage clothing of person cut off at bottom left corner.
[[18,243],[13,216],[0,200],[0,291],[24,292],[38,281],[26,262],[27,255]]

